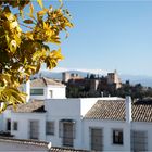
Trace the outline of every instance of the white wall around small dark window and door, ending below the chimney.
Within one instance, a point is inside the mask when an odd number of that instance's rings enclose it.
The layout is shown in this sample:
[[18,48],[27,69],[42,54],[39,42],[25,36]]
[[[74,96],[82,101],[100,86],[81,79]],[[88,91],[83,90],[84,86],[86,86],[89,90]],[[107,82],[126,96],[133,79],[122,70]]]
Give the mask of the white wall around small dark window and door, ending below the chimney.
[[[103,130],[103,150],[104,151],[129,151],[127,143],[129,139],[126,138],[127,127],[123,122],[110,122],[110,121],[91,121],[84,119],[84,148],[90,150],[90,132],[89,128],[101,128]],[[116,145],[113,144],[112,130],[113,129],[123,129],[124,131],[124,144]]]

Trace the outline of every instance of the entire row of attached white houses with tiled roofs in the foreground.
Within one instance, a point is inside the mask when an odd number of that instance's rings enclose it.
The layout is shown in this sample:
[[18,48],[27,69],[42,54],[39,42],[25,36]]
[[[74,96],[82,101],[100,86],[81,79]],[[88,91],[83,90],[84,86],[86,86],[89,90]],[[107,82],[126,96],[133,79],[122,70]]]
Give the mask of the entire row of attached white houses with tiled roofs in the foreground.
[[0,129],[13,138],[51,141],[54,147],[152,151],[152,101],[131,101],[130,97],[39,99],[20,104],[16,111],[10,106],[1,115]]

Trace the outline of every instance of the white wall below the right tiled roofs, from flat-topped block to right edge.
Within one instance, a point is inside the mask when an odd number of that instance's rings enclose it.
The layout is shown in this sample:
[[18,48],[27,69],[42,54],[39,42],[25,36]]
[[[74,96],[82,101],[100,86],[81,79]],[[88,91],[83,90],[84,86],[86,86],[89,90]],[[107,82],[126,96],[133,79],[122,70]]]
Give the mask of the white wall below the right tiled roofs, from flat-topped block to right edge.
[[[103,130],[103,151],[130,151],[130,130],[148,131],[148,150],[152,151],[152,123],[131,123],[116,121],[84,119],[84,149],[90,150],[89,128],[101,128]],[[123,145],[113,144],[113,129],[123,129]]]

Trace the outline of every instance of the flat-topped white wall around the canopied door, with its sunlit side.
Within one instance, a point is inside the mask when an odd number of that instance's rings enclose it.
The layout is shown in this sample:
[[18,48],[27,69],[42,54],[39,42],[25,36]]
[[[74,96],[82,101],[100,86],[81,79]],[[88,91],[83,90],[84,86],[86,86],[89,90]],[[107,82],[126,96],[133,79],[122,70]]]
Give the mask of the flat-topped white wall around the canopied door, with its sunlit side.
[[[54,136],[47,136],[47,141],[52,142],[53,145],[62,147],[62,138],[59,136],[59,123],[62,119],[72,119],[75,122],[75,139],[74,148],[83,149],[83,116],[97,102],[97,99],[52,99],[46,100],[45,107],[47,113],[47,121],[54,122]],[[88,103],[88,104],[87,104]]]

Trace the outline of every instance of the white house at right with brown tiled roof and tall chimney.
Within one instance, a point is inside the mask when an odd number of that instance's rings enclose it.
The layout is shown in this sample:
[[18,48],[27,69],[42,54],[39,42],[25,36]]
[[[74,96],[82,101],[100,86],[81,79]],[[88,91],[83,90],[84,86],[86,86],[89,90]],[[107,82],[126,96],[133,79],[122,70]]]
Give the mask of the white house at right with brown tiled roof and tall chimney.
[[152,151],[152,101],[99,100],[84,118],[84,148]]

